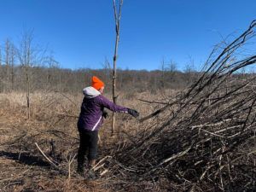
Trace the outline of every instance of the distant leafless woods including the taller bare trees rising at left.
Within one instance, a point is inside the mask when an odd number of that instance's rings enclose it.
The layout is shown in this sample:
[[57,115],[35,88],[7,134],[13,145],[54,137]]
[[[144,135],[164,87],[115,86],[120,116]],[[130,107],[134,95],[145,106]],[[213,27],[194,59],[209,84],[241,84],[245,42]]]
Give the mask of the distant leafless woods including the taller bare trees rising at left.
[[[112,70],[79,69],[71,70],[59,67],[53,55],[34,44],[32,32],[24,32],[19,44],[6,39],[0,46],[0,92],[38,90],[78,92],[90,85],[90,78],[98,76],[112,89]],[[107,66],[107,65],[106,65]],[[174,62],[163,61],[161,70],[118,70],[117,89],[127,91],[158,91],[160,89],[178,89],[193,82],[198,73],[193,65],[186,66],[184,72],[177,71]]]

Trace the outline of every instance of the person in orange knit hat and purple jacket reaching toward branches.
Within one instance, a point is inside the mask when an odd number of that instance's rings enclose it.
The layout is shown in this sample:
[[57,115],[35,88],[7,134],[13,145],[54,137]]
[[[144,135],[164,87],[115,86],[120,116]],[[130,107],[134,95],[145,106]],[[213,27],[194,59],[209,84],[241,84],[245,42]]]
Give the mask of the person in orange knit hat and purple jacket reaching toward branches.
[[96,76],[92,77],[91,86],[83,90],[84,99],[78,120],[80,143],[77,172],[80,175],[84,175],[84,155],[86,151],[88,152],[87,159],[90,173],[94,175],[92,167],[96,163],[98,131],[102,125],[103,117],[107,118],[108,116],[104,108],[108,108],[115,113],[129,113],[135,118],[139,116],[139,113],[134,109],[121,107],[110,102],[108,98],[102,96],[103,90],[104,83]]

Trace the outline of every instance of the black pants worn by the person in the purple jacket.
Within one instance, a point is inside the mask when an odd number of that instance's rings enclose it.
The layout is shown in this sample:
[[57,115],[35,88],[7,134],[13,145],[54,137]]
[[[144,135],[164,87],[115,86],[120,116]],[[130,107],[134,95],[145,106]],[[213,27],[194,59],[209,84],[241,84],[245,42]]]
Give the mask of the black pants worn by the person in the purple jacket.
[[86,152],[88,160],[96,160],[98,131],[79,131],[80,145],[78,154],[78,165],[84,166],[84,155]]

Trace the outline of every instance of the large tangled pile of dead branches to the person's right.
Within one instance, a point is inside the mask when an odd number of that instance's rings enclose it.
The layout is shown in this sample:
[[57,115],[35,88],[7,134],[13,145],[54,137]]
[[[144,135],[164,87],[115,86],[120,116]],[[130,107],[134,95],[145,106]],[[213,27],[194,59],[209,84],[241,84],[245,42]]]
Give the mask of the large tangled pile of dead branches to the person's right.
[[241,73],[256,62],[246,51],[255,27],[253,20],[233,42],[219,44],[200,79],[141,119],[142,127],[148,119],[157,123],[108,160],[117,183],[127,189],[140,181],[166,182],[172,190],[256,188],[256,76]]

